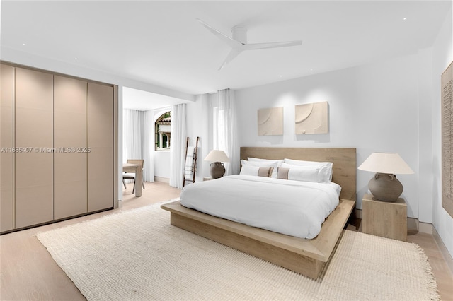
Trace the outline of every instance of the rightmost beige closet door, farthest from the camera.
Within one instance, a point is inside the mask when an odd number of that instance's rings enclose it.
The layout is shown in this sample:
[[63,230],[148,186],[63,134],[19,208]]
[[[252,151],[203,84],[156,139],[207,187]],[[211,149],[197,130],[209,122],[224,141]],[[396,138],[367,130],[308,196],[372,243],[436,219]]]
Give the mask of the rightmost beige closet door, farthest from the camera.
[[113,208],[113,86],[88,83],[88,212]]

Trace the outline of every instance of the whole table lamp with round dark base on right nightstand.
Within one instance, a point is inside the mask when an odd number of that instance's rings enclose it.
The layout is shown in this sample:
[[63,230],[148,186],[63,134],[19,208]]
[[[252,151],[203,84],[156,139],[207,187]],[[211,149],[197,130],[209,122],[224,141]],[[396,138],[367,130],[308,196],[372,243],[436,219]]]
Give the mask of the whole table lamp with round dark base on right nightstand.
[[376,172],[369,180],[368,188],[374,199],[394,202],[403,193],[403,185],[395,174],[413,174],[413,170],[397,153],[372,153],[359,170]]

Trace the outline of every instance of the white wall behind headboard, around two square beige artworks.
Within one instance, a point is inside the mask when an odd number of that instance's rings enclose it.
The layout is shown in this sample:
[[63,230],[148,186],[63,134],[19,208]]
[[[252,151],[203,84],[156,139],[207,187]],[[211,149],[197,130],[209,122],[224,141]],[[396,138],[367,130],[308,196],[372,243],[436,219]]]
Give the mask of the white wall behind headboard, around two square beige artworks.
[[[415,171],[397,176],[405,188],[408,216],[418,218],[418,73],[426,60],[413,54],[236,90],[240,146],[355,147],[357,166],[375,151],[399,153]],[[329,133],[296,135],[294,105],[325,100]],[[257,110],[266,107],[284,107],[283,136],[257,135]],[[371,172],[357,170],[357,208],[371,177]]]

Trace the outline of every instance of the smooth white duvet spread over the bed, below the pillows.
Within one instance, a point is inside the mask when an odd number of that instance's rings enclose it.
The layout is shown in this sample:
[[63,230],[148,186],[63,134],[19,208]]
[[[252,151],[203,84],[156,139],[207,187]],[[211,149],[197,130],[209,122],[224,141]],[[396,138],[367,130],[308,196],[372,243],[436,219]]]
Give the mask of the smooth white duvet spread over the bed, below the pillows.
[[338,206],[333,182],[231,175],[185,186],[180,203],[238,223],[302,238],[314,238]]

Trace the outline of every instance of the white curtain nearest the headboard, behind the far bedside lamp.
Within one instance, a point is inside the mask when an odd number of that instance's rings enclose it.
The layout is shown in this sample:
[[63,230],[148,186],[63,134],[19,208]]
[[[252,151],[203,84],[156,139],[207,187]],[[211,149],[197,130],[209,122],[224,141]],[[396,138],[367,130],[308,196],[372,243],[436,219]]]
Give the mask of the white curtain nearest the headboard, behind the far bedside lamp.
[[222,150],[229,158],[225,163],[225,175],[239,174],[239,143],[236,129],[236,108],[234,91],[219,90],[218,107],[214,108],[214,149]]

